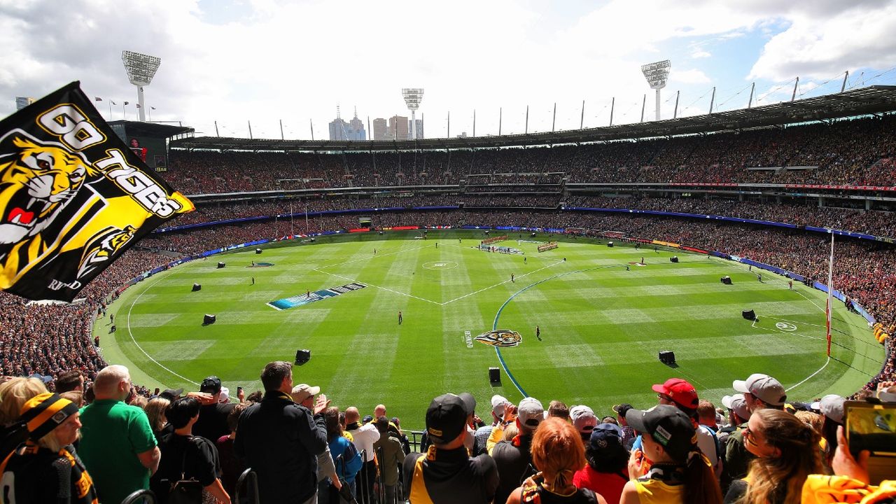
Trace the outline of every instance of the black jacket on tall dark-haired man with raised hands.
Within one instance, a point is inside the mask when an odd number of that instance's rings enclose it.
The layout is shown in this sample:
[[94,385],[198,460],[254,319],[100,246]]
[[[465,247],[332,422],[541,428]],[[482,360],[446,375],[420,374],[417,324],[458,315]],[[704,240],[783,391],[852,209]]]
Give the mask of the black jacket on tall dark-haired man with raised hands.
[[239,416],[234,451],[258,475],[262,504],[304,502],[317,491],[317,459],[327,446],[323,415],[280,391]]

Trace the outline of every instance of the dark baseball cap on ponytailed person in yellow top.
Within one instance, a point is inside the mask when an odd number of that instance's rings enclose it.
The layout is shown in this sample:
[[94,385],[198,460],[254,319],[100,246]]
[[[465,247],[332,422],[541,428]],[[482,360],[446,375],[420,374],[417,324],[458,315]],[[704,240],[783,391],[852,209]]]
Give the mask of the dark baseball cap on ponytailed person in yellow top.
[[685,460],[697,444],[697,430],[685,412],[671,404],[657,404],[649,410],[629,410],[625,421],[632,429],[658,442],[669,456]]

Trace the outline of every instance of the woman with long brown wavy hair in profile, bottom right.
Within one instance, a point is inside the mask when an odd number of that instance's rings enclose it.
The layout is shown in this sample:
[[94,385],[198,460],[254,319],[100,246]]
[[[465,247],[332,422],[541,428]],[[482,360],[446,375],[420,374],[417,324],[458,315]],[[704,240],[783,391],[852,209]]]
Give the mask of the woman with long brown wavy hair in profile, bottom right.
[[780,410],[753,412],[744,430],[744,447],[756,458],[743,480],[731,483],[726,503],[799,504],[809,474],[822,473],[821,436]]

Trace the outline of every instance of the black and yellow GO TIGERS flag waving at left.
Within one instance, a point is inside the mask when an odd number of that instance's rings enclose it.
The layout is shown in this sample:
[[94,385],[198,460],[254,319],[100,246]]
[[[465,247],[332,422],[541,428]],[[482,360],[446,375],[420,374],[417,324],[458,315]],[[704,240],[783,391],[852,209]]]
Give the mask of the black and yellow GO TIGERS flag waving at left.
[[0,290],[71,301],[144,235],[194,210],[71,83],[0,121]]

